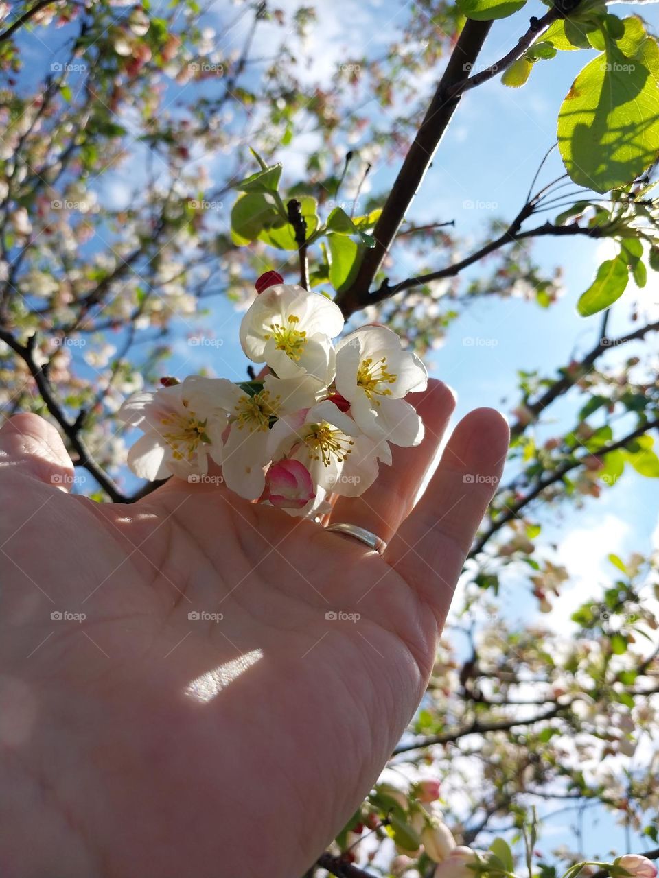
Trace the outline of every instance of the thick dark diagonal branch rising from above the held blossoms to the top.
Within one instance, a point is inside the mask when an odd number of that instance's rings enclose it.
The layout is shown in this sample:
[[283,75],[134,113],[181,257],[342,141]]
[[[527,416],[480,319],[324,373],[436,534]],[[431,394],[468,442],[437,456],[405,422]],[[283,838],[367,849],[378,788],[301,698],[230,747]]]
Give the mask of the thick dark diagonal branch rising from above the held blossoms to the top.
[[365,251],[357,277],[350,288],[337,296],[337,305],[351,314],[368,304],[368,290],[380,264],[394,241],[409,205],[430,167],[432,156],[451,121],[460,97],[449,97],[458,83],[467,79],[466,71],[474,66],[491,26],[489,21],[468,20],[455,44],[453,53],[438,83],[437,91],[424,116],[416,137],[402,163],[395,184],[375,225],[375,247]]

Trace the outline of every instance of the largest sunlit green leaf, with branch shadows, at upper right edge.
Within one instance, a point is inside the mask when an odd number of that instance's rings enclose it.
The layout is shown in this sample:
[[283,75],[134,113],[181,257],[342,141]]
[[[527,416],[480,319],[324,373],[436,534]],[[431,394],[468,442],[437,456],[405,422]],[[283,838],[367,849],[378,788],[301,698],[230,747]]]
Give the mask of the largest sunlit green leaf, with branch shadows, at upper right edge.
[[641,60],[643,51],[630,62],[609,41],[606,54],[572,83],[558,117],[558,141],[576,184],[606,192],[630,183],[655,161],[659,88]]

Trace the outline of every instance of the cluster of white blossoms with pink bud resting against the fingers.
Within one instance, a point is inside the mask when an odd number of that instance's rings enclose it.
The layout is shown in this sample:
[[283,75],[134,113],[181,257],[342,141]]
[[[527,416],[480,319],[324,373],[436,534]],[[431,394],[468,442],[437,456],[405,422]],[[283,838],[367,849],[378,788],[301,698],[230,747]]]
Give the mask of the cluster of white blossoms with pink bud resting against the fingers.
[[404,397],[424,390],[418,357],[387,327],[366,326],[333,342],[344,317],[330,299],[283,283],[257,281],[240,341],[257,380],[189,376],[155,393],[137,393],[119,417],[144,435],[128,464],[144,479],[198,480],[209,461],[245,500],[291,515],[319,515],[329,495],[358,496],[390,443],[417,445],[424,425]]

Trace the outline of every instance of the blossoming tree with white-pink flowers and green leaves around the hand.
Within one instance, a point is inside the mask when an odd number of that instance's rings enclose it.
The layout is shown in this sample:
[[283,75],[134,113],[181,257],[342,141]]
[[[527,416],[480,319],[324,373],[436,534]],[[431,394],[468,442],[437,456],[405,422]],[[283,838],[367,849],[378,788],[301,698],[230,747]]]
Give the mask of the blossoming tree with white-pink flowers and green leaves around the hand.
[[[611,247],[575,302],[599,321],[597,343],[577,345],[554,374],[520,372],[506,477],[424,702],[382,780],[308,875],[656,875],[656,559],[611,555],[610,581],[572,615],[576,638],[540,615],[514,626],[499,607],[511,572],[541,613],[570,584],[543,551],[539,522],[554,507],[597,499],[630,470],[659,477],[650,343],[659,321],[646,319],[642,298],[659,270],[659,50],[640,16],[595,0],[554,0],[540,18],[524,7],[424,0],[383,54],[344,61],[329,89],[297,56],[315,26],[311,7],[245,4],[213,31],[194,0],[0,3],[4,415],[53,421],[95,500],[129,504],[151,490],[131,481],[126,460],[157,481],[189,476],[192,458],[193,474],[206,472],[221,448],[235,493],[315,514],[340,479],[343,493],[370,484],[389,443],[421,441],[404,397],[424,385],[419,356],[451,333],[461,309],[486,295],[554,304],[560,277],[534,261],[530,242]],[[481,63],[497,19],[509,16],[521,36]],[[264,28],[279,34],[265,59],[254,48]],[[232,32],[239,44],[225,39]],[[35,47],[40,63],[46,47],[52,54],[40,69]],[[406,220],[468,93],[497,76],[521,88],[536,64],[560,64],[565,53],[589,60],[557,119],[564,173],[544,183],[539,156],[516,215],[476,246],[439,218]],[[436,86],[416,98],[426,68]],[[365,95],[386,112],[366,109]],[[322,137],[296,179],[278,151],[308,126]],[[357,140],[359,161],[345,149]],[[209,170],[213,155],[223,162]],[[374,162],[395,167],[394,183],[360,198]],[[134,189],[113,207],[105,182],[127,169],[139,169]],[[355,209],[339,202],[342,191]],[[481,273],[466,280],[472,267]],[[283,293],[277,271],[289,280]],[[211,321],[196,327],[215,296],[250,306],[240,341],[269,374],[250,366],[239,380],[214,377],[209,356],[205,374],[170,377],[181,317],[194,321],[195,338],[212,339]],[[619,299],[632,319],[611,337],[608,309]],[[356,319],[377,326],[342,335]],[[626,344],[638,353],[611,356]],[[561,405],[564,428],[546,437]],[[168,427],[154,430],[154,419]],[[132,428],[143,435],[128,451]],[[301,443],[310,432],[315,443]],[[551,850],[547,802],[579,820],[613,815],[647,847],[583,849],[577,820],[574,843]]]

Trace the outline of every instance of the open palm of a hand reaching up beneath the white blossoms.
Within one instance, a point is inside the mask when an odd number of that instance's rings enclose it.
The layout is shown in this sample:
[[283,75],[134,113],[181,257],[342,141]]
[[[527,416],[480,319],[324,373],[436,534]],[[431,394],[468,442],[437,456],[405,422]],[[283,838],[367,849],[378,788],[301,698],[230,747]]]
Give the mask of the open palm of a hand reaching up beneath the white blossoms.
[[412,510],[454,399],[409,399],[424,442],[332,513],[384,558],[216,484],[69,495],[55,428],[4,423],[3,878],[299,878],[342,829],[424,693],[508,443],[467,415]]

